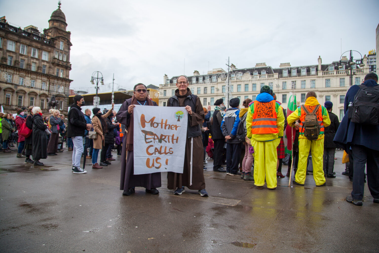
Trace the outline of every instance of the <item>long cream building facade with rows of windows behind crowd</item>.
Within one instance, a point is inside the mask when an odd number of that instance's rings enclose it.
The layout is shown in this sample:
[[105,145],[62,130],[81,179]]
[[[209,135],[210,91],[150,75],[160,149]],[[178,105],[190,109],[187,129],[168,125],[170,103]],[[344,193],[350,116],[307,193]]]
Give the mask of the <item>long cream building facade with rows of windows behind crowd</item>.
[[[363,62],[367,62],[367,57],[363,57]],[[343,68],[338,68],[339,61],[330,64],[322,64],[321,57],[317,59],[318,64],[307,66],[291,66],[290,63],[281,63],[279,68],[272,68],[266,63],[257,63],[254,68],[237,69],[232,64],[229,72],[229,98],[238,97],[240,104],[244,99],[253,101],[260,92],[263,85],[268,85],[276,93],[277,100],[282,102],[283,108],[287,108],[287,103],[292,91],[296,94],[298,105],[304,104],[305,95],[308,91],[315,91],[320,104],[325,101],[333,102],[333,113],[341,120],[343,118],[343,105],[345,95],[351,85],[361,84],[369,68],[365,65],[360,68],[354,65],[352,68],[353,81],[349,83],[350,70],[347,67],[348,59],[341,60]],[[203,106],[211,105],[223,98],[227,105],[227,76],[224,69],[213,69],[207,74],[200,75],[195,71],[188,76],[189,88],[191,92],[199,96]],[[178,76],[171,79],[167,75],[163,77],[163,84],[159,88],[159,105],[166,106],[169,97],[174,95],[176,90],[176,80]]]

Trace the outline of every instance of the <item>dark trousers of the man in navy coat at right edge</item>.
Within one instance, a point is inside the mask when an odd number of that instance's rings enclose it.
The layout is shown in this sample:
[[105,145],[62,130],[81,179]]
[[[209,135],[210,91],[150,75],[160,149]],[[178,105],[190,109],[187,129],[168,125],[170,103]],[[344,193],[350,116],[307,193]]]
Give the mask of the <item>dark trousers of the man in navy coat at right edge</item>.
[[356,200],[362,200],[365,188],[365,165],[367,164],[368,189],[373,198],[379,199],[379,151],[362,145],[352,145],[351,149],[354,163],[351,196]]

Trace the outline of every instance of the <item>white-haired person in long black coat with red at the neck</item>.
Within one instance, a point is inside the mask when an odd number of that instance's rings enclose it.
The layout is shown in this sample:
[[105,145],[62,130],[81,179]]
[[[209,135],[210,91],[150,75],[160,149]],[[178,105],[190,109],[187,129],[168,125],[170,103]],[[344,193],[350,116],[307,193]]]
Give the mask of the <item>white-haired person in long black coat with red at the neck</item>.
[[40,107],[35,106],[32,109],[33,117],[31,122],[33,123],[33,149],[32,155],[34,159],[34,165],[44,166],[39,159],[47,158],[47,134],[45,130],[47,129],[47,124],[42,118],[42,110]]

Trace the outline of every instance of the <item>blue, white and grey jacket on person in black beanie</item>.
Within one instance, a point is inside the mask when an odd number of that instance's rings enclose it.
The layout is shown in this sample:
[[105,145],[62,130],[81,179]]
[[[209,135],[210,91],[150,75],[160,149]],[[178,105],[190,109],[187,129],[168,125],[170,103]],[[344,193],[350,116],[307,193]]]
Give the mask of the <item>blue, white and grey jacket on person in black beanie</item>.
[[232,137],[232,139],[226,140],[226,143],[240,143],[236,138],[240,121],[240,109],[232,107],[226,110],[224,118],[221,121],[221,131],[225,137],[228,135]]

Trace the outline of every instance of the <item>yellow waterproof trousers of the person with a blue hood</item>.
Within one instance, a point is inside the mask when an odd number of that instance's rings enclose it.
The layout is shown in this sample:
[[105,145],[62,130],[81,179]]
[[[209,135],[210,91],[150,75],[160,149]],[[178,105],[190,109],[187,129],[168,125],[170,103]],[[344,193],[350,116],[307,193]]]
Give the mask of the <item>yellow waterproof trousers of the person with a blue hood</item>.
[[[276,188],[276,147],[280,143],[280,138],[272,141],[256,141],[251,139],[254,147],[254,184],[257,186],[265,185],[267,188]],[[323,168],[321,167],[321,170]]]

